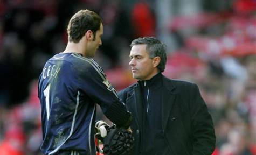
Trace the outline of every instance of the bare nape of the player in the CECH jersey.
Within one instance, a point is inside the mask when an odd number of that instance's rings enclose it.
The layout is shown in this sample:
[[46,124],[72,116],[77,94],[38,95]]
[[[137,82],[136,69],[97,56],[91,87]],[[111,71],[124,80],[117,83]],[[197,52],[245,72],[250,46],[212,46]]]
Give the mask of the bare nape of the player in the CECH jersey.
[[86,57],[86,48],[81,45],[81,41],[79,43],[74,42],[68,42],[66,49],[63,51],[63,53],[80,53],[84,57]]

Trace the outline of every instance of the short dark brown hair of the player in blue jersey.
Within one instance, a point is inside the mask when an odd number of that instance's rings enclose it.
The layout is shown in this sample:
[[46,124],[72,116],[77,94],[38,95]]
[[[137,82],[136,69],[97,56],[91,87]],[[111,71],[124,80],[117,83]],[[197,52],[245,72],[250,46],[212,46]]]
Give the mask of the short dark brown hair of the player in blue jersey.
[[91,10],[80,10],[75,13],[70,22],[68,22],[67,33],[68,41],[78,43],[88,30],[94,35],[100,30],[100,24],[103,23],[100,16]]

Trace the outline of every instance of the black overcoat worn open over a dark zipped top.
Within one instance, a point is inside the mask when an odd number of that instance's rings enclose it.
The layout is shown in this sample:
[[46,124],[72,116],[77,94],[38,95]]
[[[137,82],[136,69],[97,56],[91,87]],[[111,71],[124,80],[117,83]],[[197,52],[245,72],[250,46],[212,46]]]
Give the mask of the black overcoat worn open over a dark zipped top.
[[[164,139],[172,155],[211,154],[216,137],[212,117],[194,83],[172,80],[162,76],[162,129]],[[119,92],[127,109],[134,116],[131,125],[135,138],[133,155],[139,154],[142,131],[143,95],[139,85],[133,84]],[[163,148],[157,148],[163,149]],[[157,152],[157,150],[156,150]]]

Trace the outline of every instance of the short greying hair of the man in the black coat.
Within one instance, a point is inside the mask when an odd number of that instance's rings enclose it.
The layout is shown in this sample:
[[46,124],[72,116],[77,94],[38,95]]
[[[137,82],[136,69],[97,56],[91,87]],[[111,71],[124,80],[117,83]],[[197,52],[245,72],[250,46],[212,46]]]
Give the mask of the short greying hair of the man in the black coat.
[[146,44],[146,50],[149,53],[149,57],[153,59],[154,57],[160,57],[160,63],[158,64],[157,68],[160,72],[163,72],[165,69],[165,64],[167,60],[166,56],[166,45],[161,43],[160,40],[156,39],[155,37],[143,37],[137,38],[132,41],[130,47],[134,45]]

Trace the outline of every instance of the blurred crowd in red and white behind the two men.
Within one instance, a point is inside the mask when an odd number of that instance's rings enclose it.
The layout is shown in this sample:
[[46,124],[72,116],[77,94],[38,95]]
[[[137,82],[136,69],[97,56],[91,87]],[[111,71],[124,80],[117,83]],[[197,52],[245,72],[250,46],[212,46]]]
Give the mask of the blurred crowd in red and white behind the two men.
[[[256,1],[195,1],[199,13],[164,19],[176,47],[168,49],[164,75],[198,84],[215,123],[213,154],[256,154]],[[128,65],[130,41],[161,38],[156,3],[0,0],[0,154],[41,154],[37,79],[45,61],[64,50],[74,12],[88,8],[102,17],[95,60],[121,90],[136,82]],[[107,120],[100,108],[97,117]]]

